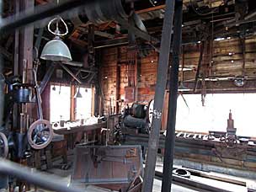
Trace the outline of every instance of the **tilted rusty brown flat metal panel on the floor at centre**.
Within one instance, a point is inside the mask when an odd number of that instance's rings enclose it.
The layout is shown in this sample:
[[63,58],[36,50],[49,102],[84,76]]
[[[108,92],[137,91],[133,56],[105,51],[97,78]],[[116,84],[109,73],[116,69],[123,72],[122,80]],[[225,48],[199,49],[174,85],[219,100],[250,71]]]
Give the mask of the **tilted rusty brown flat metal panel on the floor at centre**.
[[72,184],[128,189],[143,174],[141,146],[77,146]]

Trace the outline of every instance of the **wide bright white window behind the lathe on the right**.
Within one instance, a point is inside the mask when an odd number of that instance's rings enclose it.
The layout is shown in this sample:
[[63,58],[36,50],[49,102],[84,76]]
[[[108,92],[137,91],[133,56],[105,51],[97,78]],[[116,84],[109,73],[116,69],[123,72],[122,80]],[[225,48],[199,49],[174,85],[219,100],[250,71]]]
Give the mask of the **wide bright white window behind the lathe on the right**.
[[181,96],[178,98],[176,130],[226,131],[231,109],[237,135],[256,136],[256,93],[207,94],[204,107],[200,94],[186,94],[184,99]]

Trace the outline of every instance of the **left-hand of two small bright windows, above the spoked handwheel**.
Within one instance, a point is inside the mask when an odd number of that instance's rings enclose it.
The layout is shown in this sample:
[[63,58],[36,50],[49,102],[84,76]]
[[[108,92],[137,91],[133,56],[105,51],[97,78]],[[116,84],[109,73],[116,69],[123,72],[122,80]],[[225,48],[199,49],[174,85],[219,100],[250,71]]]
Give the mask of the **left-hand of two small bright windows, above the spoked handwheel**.
[[51,85],[50,120],[70,120],[70,86]]

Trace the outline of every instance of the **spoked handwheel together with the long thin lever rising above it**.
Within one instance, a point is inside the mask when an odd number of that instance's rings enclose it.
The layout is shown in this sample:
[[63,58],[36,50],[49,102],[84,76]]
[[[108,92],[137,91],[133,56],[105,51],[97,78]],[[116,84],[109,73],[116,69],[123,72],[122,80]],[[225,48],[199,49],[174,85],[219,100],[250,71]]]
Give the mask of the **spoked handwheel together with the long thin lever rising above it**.
[[53,130],[51,127],[51,123],[48,120],[43,119],[41,96],[36,75],[38,64],[39,62],[35,62],[33,75],[35,80],[35,101],[37,105],[37,113],[39,115],[39,120],[36,120],[32,125],[29,126],[27,136],[29,145],[31,147],[33,147],[34,149],[43,149],[50,144],[53,137]]

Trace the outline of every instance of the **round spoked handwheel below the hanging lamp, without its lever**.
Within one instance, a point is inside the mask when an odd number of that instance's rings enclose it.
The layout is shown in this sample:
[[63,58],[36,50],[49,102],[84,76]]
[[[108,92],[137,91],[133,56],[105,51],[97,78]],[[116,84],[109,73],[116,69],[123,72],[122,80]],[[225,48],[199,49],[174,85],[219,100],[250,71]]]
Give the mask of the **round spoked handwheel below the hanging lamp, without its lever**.
[[29,126],[28,131],[29,145],[34,149],[47,147],[53,137],[51,123],[48,120],[36,120]]

